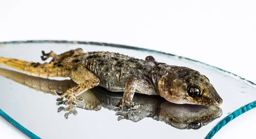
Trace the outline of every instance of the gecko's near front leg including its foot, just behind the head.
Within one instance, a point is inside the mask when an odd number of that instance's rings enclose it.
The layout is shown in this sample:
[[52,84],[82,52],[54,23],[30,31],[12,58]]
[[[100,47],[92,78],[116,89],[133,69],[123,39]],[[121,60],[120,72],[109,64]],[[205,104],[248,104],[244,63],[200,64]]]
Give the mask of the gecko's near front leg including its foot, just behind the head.
[[124,106],[126,106],[127,110],[137,109],[140,104],[132,101],[134,92],[136,89],[138,91],[145,89],[146,84],[147,82],[140,77],[129,77],[125,85],[124,95],[116,105],[116,111],[122,111]]

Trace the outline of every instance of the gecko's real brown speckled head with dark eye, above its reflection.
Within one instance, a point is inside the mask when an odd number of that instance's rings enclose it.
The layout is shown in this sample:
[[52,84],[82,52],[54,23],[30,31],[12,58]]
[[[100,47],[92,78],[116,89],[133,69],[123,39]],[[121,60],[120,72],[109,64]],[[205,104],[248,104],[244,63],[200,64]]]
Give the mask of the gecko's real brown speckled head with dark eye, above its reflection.
[[222,99],[205,75],[187,67],[172,66],[158,81],[160,95],[177,104],[219,106]]

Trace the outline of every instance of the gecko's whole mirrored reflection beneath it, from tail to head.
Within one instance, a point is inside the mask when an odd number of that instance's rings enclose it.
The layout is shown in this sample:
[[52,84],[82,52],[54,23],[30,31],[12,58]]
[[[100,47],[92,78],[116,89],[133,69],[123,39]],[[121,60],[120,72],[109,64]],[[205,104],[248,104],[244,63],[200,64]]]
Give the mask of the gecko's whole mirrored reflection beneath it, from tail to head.
[[[0,68],[0,75],[12,81],[28,86],[32,89],[55,95],[54,90],[63,92],[76,86],[72,80],[51,80],[26,75],[8,69]],[[77,101],[78,108],[99,111],[102,107],[114,111],[116,103],[122,98],[123,93],[113,93],[102,87],[96,87],[80,95],[84,101]],[[178,129],[199,129],[212,122],[222,115],[222,110],[218,106],[190,105],[170,103],[159,96],[149,96],[135,94],[134,100],[141,104],[139,108],[131,111],[116,112],[117,120],[130,120],[138,122],[145,117],[150,117],[157,121],[163,121],[168,125]],[[62,103],[57,103],[62,104]],[[64,114],[68,118],[69,114],[76,115],[76,107],[59,107],[58,111],[68,111]],[[70,112],[72,110],[72,113]]]

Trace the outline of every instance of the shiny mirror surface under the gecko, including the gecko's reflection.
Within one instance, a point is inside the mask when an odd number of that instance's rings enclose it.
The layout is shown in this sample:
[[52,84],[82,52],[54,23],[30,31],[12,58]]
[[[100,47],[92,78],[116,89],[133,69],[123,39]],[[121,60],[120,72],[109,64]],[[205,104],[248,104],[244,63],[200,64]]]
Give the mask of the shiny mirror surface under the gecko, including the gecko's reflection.
[[42,63],[41,50],[53,50],[60,54],[76,48],[85,52],[117,52],[139,59],[153,56],[158,62],[195,69],[209,78],[223,104],[219,107],[178,105],[158,96],[136,94],[134,102],[141,104],[137,110],[116,113],[113,108],[122,97],[122,92],[109,92],[96,87],[81,95],[84,101],[79,103],[81,108],[76,109],[78,114],[70,114],[65,119],[64,111],[57,112],[63,105],[55,104],[58,96],[54,90],[63,92],[75,86],[76,83],[70,78],[34,77],[0,65],[0,108],[40,138],[202,139],[221,119],[256,100],[253,83],[200,62],[153,51],[89,44],[25,43],[1,44],[0,57]]

